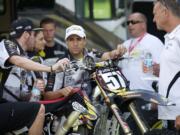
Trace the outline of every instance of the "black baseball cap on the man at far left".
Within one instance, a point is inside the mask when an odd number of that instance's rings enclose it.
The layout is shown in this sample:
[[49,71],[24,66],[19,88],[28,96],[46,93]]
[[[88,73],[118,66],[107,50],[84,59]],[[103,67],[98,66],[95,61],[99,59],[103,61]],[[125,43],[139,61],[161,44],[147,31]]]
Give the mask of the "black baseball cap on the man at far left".
[[31,20],[23,18],[12,22],[11,24],[11,38],[19,38],[25,31],[36,31],[42,28],[35,28]]

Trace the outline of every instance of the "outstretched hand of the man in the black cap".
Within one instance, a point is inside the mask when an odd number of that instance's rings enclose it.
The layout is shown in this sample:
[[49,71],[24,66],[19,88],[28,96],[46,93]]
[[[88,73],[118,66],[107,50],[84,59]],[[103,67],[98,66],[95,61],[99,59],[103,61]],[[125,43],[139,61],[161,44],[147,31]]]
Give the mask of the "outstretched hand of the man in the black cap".
[[65,67],[68,64],[69,64],[69,59],[67,59],[67,58],[60,59],[56,64],[54,64],[51,67],[51,70],[55,71],[55,72],[61,72],[65,69]]

